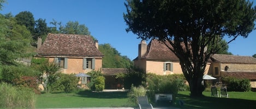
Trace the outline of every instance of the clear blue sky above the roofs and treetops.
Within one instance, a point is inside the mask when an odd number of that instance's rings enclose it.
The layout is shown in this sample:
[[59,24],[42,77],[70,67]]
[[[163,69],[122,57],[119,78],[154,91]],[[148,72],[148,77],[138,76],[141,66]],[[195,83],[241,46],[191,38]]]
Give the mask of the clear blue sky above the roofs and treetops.
[[[110,43],[121,55],[133,60],[138,55],[140,39],[136,39],[136,35],[125,30],[127,25],[123,20],[123,12],[126,12],[124,2],[124,0],[7,0],[0,13],[11,12],[15,16],[21,11],[30,11],[35,20],[43,18],[48,24],[53,19],[62,22],[63,25],[68,21],[78,21],[79,24],[88,27],[91,35],[96,37],[100,44]],[[256,30],[246,39],[239,37],[229,43],[229,52],[234,55],[252,56],[256,54],[255,42]]]

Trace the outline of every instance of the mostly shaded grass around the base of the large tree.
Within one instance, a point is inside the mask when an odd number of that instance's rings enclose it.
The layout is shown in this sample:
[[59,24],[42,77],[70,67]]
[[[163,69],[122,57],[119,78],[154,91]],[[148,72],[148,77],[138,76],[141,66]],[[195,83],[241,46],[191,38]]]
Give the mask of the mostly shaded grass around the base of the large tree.
[[177,99],[183,100],[184,106],[178,107],[186,109],[256,108],[256,92],[228,92],[229,98],[211,97],[211,92],[203,92],[205,97],[190,98],[189,93],[188,91],[179,92]]

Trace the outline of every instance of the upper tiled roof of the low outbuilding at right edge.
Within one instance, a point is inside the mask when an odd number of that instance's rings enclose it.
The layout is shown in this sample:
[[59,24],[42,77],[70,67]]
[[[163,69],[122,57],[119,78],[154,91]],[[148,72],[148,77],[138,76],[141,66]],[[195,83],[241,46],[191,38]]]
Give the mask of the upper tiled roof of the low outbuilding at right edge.
[[252,56],[236,56],[236,55],[224,55],[224,54],[214,54],[211,60],[222,62],[222,63],[249,63],[256,64],[256,58]]

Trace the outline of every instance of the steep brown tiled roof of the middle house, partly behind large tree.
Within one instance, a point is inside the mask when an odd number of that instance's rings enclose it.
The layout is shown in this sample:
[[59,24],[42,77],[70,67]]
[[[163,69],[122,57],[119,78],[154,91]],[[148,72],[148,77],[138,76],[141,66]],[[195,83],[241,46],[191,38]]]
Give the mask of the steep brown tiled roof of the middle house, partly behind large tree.
[[163,42],[159,42],[158,40],[151,40],[148,43],[147,53],[142,58],[179,61],[178,57]]

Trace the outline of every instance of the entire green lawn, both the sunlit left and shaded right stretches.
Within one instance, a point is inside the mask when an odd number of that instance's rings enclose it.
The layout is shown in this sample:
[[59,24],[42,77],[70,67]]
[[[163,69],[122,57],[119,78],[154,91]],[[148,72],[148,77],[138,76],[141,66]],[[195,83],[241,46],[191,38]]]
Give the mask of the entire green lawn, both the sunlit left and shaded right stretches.
[[[251,109],[256,108],[256,92],[228,92],[229,98],[211,97],[211,92],[203,92],[205,97],[190,98],[188,91],[179,92],[177,100],[184,105],[181,109]],[[38,95],[36,108],[71,108],[71,107],[131,107],[127,92],[81,91],[79,93],[47,93]]]

